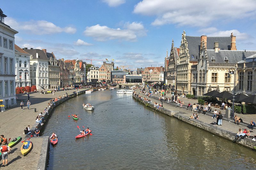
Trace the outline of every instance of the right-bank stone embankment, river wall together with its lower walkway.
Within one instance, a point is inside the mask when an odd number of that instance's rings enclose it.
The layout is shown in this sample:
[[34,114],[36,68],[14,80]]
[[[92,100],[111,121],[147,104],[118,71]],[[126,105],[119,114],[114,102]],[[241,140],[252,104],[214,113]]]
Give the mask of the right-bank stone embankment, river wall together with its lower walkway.
[[[218,135],[220,137],[223,137],[225,139],[228,139],[228,140],[234,142],[234,139],[236,136],[236,131],[238,131],[238,127],[234,123],[230,123],[228,121],[222,121],[222,125],[224,125],[226,123],[225,126],[212,125],[212,124],[210,124],[211,121],[208,120],[210,118],[210,116],[200,114],[199,120],[189,119],[190,115],[192,115],[192,114],[191,113],[189,114],[188,110],[184,110],[184,109],[181,109],[178,107],[176,108],[175,106],[169,106],[167,104],[164,104],[164,107],[160,107],[159,109],[157,109],[154,107],[153,103],[148,103],[147,101],[145,101],[143,99],[139,99],[137,96],[133,96],[133,98],[135,100],[138,100],[140,103],[143,103],[147,107],[150,107],[150,108],[157,110],[161,113],[164,113],[166,115],[176,117],[177,119],[179,119],[183,122],[187,122],[193,126],[196,126],[200,129],[208,131],[214,135]],[[153,100],[155,101],[156,99],[152,99],[152,102],[154,102]],[[183,112],[183,110],[184,110],[184,112]],[[189,112],[191,112],[191,110],[189,110]],[[212,119],[212,121],[215,121],[215,120],[216,119]],[[246,128],[246,127],[244,127],[244,128]],[[252,141],[250,138],[239,139],[236,141],[236,143],[256,151],[256,149],[255,149],[256,141]]]

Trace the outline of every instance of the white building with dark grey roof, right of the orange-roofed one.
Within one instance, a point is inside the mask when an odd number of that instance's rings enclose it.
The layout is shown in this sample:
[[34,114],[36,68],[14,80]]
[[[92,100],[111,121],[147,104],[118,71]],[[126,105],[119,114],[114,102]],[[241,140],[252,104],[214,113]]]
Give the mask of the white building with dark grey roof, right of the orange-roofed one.
[[24,48],[30,55],[30,78],[31,85],[36,85],[36,89],[48,89],[49,74],[48,63],[49,60],[43,50]]

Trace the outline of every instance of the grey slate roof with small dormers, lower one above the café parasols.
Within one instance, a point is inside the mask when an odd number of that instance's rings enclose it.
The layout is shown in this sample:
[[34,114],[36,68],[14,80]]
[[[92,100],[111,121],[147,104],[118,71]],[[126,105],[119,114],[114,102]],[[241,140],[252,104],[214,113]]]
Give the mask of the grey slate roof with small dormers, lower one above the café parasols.
[[214,50],[207,49],[209,63],[212,63],[212,56],[214,56],[215,63],[225,63],[225,57],[228,57],[228,63],[237,63],[253,54],[256,54],[256,51],[244,52],[244,50],[219,50],[218,53],[215,53]]

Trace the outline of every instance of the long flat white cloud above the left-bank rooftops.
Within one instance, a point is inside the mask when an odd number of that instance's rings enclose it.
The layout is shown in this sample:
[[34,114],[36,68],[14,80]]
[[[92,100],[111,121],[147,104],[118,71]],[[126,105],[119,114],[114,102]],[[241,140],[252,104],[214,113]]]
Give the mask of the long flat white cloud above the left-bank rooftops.
[[36,34],[36,35],[43,35],[43,34],[54,34],[54,33],[71,33],[74,34],[76,33],[76,28],[71,27],[71,26],[66,26],[66,27],[60,27],[56,26],[52,22],[40,20],[40,21],[35,21],[35,20],[30,20],[26,22],[17,22],[13,18],[6,18],[5,19],[5,24],[11,26],[15,30],[24,30],[27,33],[31,34]]

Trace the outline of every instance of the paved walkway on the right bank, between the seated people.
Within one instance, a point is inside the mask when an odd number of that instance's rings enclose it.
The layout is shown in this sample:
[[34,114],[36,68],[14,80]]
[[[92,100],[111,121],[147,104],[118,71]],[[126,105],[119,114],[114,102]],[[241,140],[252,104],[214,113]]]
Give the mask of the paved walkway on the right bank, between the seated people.
[[[147,91],[147,89],[146,89]],[[139,90],[137,89],[137,94],[139,94]],[[150,99],[152,101],[152,103],[156,102],[156,103],[161,103],[159,100],[156,100],[154,98],[148,98],[147,96],[145,96],[144,94],[139,94],[140,96],[143,96],[146,97],[147,99]],[[169,94],[170,95],[170,94]],[[156,97],[159,97],[160,95],[154,95]],[[166,96],[165,97],[169,97]],[[181,99],[180,99],[181,100]],[[184,101],[184,106],[185,105],[188,105],[188,102],[190,103],[196,103],[197,100],[192,100],[192,99],[186,99],[186,98],[182,98],[182,100]],[[182,113],[184,113],[185,116],[187,116],[188,118],[193,115],[193,112],[191,111],[191,108],[190,110],[188,109],[184,109],[184,108],[180,108],[180,107],[175,107],[175,106],[172,106],[170,104],[167,104],[167,103],[163,103],[163,106],[165,109],[168,109],[168,110],[171,110],[171,111],[180,111]],[[217,109],[217,108],[216,108]],[[215,109],[214,109],[215,110]],[[217,111],[219,112],[220,109],[217,109]],[[223,112],[223,110],[221,110]],[[194,113],[197,113],[197,112],[194,112]],[[201,112],[202,113],[202,112]],[[198,113],[197,113],[198,114]],[[238,114],[237,114],[238,115]],[[240,115],[240,114],[239,114]],[[203,115],[203,114],[198,114],[199,116],[199,120],[198,121],[202,121],[204,123],[212,123],[212,122],[216,122],[217,119],[212,119],[212,116],[208,116],[208,115]],[[254,120],[255,120],[255,115],[254,116]],[[241,116],[242,117],[242,116]],[[251,120],[251,115],[243,115],[243,120]],[[222,126],[219,126],[219,125],[215,125],[215,126],[218,126],[219,128],[223,129],[223,130],[228,130],[230,132],[233,132],[233,133],[237,133],[238,132],[238,129],[241,128],[241,129],[248,129],[246,126],[243,126],[241,124],[237,125],[235,123],[232,123],[232,122],[228,122],[228,121],[225,121],[225,120],[222,120]],[[256,135],[256,128],[254,128],[253,130],[251,130],[251,136],[254,136]]]

